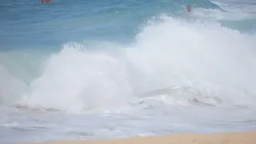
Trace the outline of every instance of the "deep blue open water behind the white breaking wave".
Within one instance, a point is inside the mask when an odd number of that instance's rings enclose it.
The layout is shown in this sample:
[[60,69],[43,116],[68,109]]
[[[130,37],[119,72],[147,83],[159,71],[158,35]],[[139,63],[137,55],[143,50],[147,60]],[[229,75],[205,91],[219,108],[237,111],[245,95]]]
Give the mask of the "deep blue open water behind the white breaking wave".
[[[158,14],[181,16],[188,4],[193,8],[218,9],[207,0],[54,1],[52,4],[3,1],[1,50],[53,49],[65,42],[92,40],[130,42],[143,22]],[[251,30],[254,22],[246,27]]]

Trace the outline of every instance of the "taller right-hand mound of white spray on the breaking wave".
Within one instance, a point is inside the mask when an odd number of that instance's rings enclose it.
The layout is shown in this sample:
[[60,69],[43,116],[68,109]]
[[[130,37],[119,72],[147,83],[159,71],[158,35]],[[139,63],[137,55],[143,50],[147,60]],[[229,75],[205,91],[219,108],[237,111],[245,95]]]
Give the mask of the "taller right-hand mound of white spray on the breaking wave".
[[[178,83],[210,83],[196,89],[205,97],[218,94],[230,105],[240,102],[254,105],[254,37],[217,23],[166,17],[162,20],[150,22],[153,24],[138,35],[138,49],[132,52],[136,56],[130,58],[138,69],[143,66],[143,77],[150,83],[148,90]],[[211,93],[207,94],[207,90]],[[250,94],[244,96],[247,90]]]

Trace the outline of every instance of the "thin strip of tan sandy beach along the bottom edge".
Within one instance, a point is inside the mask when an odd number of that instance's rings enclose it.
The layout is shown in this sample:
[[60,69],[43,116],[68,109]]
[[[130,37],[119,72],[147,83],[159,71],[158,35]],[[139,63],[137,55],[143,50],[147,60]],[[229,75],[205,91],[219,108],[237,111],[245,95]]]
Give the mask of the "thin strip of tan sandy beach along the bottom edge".
[[[255,144],[256,131],[218,134],[170,134],[165,136],[134,137],[115,140],[60,141],[41,144]],[[25,144],[25,143],[22,143]],[[39,144],[39,143],[26,143]]]

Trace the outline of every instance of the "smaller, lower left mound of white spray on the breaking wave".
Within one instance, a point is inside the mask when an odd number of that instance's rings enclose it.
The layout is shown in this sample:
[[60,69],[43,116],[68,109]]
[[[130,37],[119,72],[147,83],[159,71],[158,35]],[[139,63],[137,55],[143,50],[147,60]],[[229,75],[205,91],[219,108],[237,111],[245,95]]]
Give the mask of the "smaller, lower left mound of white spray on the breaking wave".
[[67,44],[47,60],[22,104],[71,111],[120,104],[130,94],[125,70],[122,62],[107,54]]

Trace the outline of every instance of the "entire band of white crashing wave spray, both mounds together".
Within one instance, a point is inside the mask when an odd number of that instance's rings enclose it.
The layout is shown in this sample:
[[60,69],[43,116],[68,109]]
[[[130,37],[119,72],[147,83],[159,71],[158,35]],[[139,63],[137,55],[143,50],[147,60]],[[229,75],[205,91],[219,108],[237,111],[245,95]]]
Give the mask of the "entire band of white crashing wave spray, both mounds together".
[[1,102],[81,111],[164,98],[172,106],[254,108],[254,46],[254,36],[218,23],[163,15],[142,26],[130,46],[87,50],[68,42],[38,63],[29,82],[1,66]]

